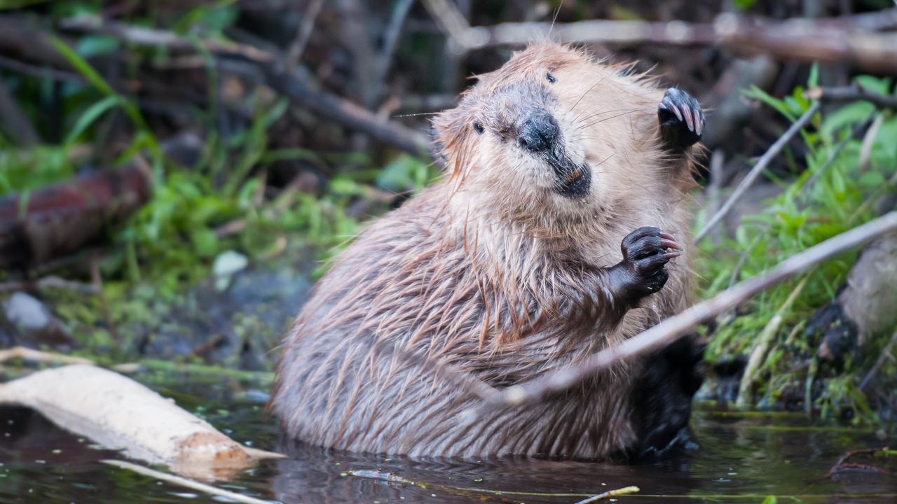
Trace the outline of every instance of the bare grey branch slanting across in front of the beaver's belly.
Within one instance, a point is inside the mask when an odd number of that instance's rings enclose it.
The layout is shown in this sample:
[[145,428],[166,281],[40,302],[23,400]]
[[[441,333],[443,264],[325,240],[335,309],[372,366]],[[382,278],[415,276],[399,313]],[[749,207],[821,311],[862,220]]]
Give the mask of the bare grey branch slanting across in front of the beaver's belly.
[[650,327],[640,335],[592,354],[578,364],[501,390],[492,388],[494,393],[490,391],[489,394],[480,394],[486,403],[482,409],[535,402],[551,392],[561,392],[573,387],[582,379],[616,361],[656,351],[664,345],[674,342],[676,338],[688,334],[695,326],[707,322],[727,309],[735,308],[757,292],[782,282],[849,248],[855,248],[886,231],[895,229],[897,229],[897,212],[886,213],[874,221],[845,231],[795,256],[788,257],[771,270],[740,282],[726,291],[719,292],[710,300],[701,301],[692,308],[667,318],[657,326]]

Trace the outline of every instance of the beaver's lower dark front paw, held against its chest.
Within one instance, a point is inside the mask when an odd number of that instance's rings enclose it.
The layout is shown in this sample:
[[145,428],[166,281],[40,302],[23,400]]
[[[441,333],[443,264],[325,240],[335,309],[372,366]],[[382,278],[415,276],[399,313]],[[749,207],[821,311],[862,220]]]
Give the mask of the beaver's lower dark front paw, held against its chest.
[[620,248],[623,261],[614,266],[616,282],[622,283],[618,287],[631,301],[662,289],[669,277],[664,266],[682,250],[671,235],[654,227],[632,231]]

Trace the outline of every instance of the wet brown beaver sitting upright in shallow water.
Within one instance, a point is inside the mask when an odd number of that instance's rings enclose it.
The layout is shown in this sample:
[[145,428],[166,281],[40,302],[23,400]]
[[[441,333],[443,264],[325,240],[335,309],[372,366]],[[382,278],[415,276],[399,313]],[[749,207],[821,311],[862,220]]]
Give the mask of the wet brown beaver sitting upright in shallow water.
[[693,339],[475,418],[477,396],[443,371],[509,387],[688,306],[698,102],[631,65],[538,43],[433,126],[443,178],[335,257],[285,336],[271,406],[286,435],[577,459],[678,439],[700,384]]

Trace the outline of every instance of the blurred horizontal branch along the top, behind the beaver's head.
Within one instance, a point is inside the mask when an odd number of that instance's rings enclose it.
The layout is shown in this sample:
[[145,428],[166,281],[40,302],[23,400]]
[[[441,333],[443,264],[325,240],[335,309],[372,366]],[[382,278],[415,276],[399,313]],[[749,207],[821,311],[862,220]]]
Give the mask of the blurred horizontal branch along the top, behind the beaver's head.
[[709,45],[742,53],[802,61],[852,63],[867,70],[897,70],[897,35],[873,33],[897,26],[897,9],[828,19],[770,19],[722,13],[714,22],[591,20],[570,23],[507,22],[471,27],[448,0],[426,0],[433,19],[458,52],[533,40],[602,44]]

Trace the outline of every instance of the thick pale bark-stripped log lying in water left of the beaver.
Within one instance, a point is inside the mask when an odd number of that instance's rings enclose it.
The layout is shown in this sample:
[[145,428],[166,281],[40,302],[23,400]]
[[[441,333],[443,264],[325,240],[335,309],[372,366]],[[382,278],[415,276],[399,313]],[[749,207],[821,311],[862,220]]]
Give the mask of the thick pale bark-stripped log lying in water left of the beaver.
[[103,448],[194,478],[228,478],[257,459],[247,448],[147,387],[107,369],[72,365],[0,385],[0,404],[21,404]]

